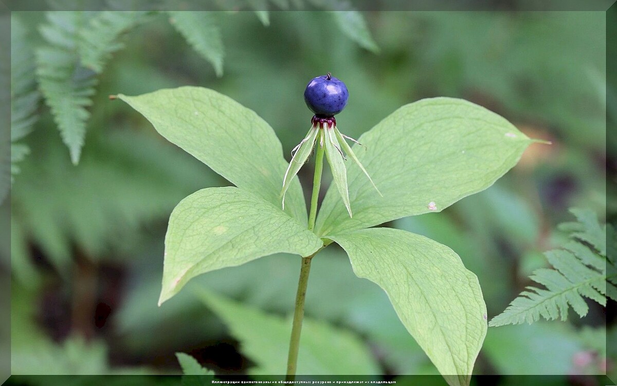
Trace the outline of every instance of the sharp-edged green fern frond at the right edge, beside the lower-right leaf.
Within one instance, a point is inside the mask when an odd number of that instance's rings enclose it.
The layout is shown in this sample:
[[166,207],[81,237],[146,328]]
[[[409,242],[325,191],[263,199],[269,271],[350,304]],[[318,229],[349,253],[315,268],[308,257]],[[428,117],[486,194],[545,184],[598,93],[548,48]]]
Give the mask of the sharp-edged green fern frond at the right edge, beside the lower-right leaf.
[[[561,224],[560,229],[570,232],[563,249],[547,251],[545,256],[552,269],[537,269],[530,279],[546,289],[527,287],[503,313],[495,316],[489,325],[521,324],[523,322],[561,318],[565,321],[571,307],[584,317],[589,311],[584,298],[602,306],[607,296],[617,294],[617,267],[607,259],[606,226],[600,225],[594,212],[571,209],[578,222]],[[611,227],[608,227],[613,232]]]

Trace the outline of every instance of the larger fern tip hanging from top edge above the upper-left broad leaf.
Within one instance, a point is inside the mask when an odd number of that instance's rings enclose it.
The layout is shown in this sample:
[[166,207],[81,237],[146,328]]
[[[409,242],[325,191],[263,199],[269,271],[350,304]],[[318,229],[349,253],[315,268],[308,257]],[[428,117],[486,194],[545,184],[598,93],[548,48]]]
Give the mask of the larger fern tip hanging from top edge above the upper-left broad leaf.
[[209,11],[168,11],[173,27],[214,67],[217,77],[223,75],[223,40],[216,17]]

